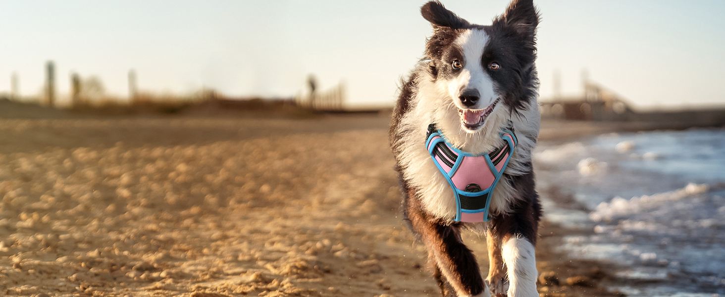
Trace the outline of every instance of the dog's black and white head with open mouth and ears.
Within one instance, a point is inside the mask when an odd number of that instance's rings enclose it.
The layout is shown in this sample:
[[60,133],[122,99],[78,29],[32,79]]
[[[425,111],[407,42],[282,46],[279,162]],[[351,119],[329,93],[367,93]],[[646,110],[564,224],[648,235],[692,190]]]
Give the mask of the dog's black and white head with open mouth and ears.
[[513,0],[488,26],[472,25],[439,1],[423,5],[421,14],[434,29],[426,59],[442,97],[437,99],[442,102],[436,121],[460,120],[461,130],[476,133],[489,122],[503,125],[503,119],[529,106],[538,87],[534,59],[539,14],[531,0]]

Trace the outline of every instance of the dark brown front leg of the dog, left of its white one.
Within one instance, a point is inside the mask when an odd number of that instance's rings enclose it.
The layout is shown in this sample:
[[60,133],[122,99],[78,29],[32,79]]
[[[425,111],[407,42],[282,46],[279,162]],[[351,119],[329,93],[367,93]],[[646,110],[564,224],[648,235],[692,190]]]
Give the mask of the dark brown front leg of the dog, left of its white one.
[[411,204],[413,205],[409,205],[407,209],[410,225],[426,244],[428,254],[433,258],[431,261],[437,265],[442,275],[439,278],[447,281],[457,296],[490,296],[476,257],[460,238],[459,227],[444,225],[440,219],[434,219],[420,207],[415,207],[417,201]]

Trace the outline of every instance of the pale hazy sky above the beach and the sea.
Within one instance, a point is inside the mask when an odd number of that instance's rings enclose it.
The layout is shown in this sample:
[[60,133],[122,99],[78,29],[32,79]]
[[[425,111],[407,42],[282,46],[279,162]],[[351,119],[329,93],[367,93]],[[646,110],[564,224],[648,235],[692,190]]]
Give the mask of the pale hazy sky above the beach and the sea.
[[[442,1],[488,25],[508,1]],[[289,97],[347,87],[351,105],[392,104],[423,57],[425,1],[0,1],[0,93],[16,73],[22,96],[41,92],[56,67],[61,99],[70,74],[97,76],[128,96],[141,91]],[[565,95],[581,72],[643,109],[725,104],[725,1],[534,1],[541,97],[555,72]]]

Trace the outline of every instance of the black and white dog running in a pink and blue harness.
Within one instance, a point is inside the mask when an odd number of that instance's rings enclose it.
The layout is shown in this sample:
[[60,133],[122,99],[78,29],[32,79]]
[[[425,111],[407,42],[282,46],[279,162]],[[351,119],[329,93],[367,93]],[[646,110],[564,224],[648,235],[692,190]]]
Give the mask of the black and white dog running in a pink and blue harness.
[[[542,208],[531,166],[541,118],[539,12],[532,0],[513,0],[492,25],[473,25],[430,1],[421,14],[433,35],[402,81],[389,130],[405,220],[425,244],[443,296],[539,296]],[[462,188],[461,178],[494,182],[484,191]],[[462,228],[486,234],[485,281]]]

